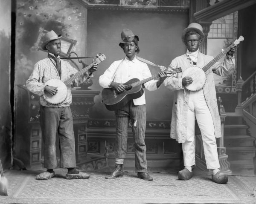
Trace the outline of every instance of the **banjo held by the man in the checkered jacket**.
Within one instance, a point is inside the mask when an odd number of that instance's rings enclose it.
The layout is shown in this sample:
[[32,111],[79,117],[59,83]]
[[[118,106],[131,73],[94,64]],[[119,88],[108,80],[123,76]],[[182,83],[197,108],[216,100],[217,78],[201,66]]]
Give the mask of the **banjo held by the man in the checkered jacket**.
[[50,79],[47,82],[45,82],[46,85],[58,87],[58,92],[54,96],[52,96],[47,92],[43,95],[45,101],[47,101],[52,105],[61,104],[67,98],[67,85],[71,84],[73,80],[83,75],[88,69],[90,69],[93,66],[95,62],[100,63],[105,59],[106,59],[106,56],[104,54],[100,55],[99,57],[96,58],[96,60],[93,63],[91,63],[84,69],[81,69],[79,72],[76,72],[76,74],[74,74],[72,77],[68,78],[64,82],[58,79]]

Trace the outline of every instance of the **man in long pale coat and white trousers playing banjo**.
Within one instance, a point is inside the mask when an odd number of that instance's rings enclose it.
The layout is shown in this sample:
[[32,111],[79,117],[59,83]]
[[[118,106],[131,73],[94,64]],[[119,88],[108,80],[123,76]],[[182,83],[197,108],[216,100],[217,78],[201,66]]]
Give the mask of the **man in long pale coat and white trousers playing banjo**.
[[[181,67],[184,71],[191,66],[203,68],[213,57],[204,55],[199,46],[204,40],[203,28],[198,23],[191,23],[182,33],[182,41],[187,47],[184,55],[176,57],[169,65],[169,69]],[[192,178],[192,168],[195,166],[195,120],[201,130],[204,145],[204,155],[207,169],[212,170],[212,181],[224,184],[228,177],[220,172],[216,138],[221,137],[221,121],[218,113],[215,83],[213,73],[220,76],[230,75],[235,68],[235,47],[224,57],[224,62],[215,63],[207,74],[207,82],[203,89],[189,92],[184,89],[193,82],[191,77],[183,77],[182,73],[172,75],[164,80],[164,85],[175,91],[171,138],[182,143],[183,161],[185,168],[178,172],[180,180]]]

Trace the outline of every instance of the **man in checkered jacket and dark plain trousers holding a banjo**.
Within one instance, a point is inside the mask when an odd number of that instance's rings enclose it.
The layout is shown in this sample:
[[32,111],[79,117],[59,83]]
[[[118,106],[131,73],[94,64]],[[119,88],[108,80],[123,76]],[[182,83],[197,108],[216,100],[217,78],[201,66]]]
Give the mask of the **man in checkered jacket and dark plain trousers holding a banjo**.
[[[58,87],[48,86],[44,83],[50,79],[65,81],[70,75],[78,72],[69,62],[61,60],[61,34],[54,31],[47,32],[42,36],[42,49],[48,51],[47,58],[38,61],[34,70],[26,81],[26,87],[34,94],[40,96],[40,124],[42,138],[44,141],[44,167],[46,172],[36,176],[38,180],[47,180],[55,176],[54,168],[58,166],[56,156],[56,133],[59,137],[60,167],[66,167],[68,172],[66,179],[89,178],[90,175],[76,170],[75,138],[73,131],[73,118],[70,110],[72,101],[71,84],[67,86],[67,98],[61,104],[54,105],[44,99],[44,94],[48,92],[55,95]],[[96,71],[96,63],[84,75],[74,81],[75,86],[79,86],[87,80],[92,72]]]

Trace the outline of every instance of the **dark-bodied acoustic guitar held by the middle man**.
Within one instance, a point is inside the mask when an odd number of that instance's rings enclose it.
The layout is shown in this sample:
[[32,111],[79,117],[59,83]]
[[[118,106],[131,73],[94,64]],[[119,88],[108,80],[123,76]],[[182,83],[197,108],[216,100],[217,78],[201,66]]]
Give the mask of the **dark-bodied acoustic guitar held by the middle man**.
[[[182,72],[180,67],[173,70],[168,70],[166,71],[166,74],[175,74],[179,72]],[[108,110],[118,110],[125,106],[125,104],[130,100],[140,98],[143,95],[143,83],[158,77],[160,77],[159,74],[153,75],[150,78],[146,78],[141,81],[137,78],[128,80],[126,83],[123,83],[125,85],[125,91],[121,93],[116,91],[114,88],[104,88],[102,90],[102,101]]]

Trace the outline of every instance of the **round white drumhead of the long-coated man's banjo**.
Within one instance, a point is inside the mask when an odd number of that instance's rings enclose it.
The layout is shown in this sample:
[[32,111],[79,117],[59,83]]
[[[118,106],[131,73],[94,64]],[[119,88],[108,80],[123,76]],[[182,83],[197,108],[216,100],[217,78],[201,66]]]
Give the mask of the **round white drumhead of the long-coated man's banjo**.
[[201,68],[197,66],[189,67],[183,71],[182,78],[184,77],[191,77],[193,79],[191,84],[185,86],[189,91],[198,91],[204,87],[206,74]]

